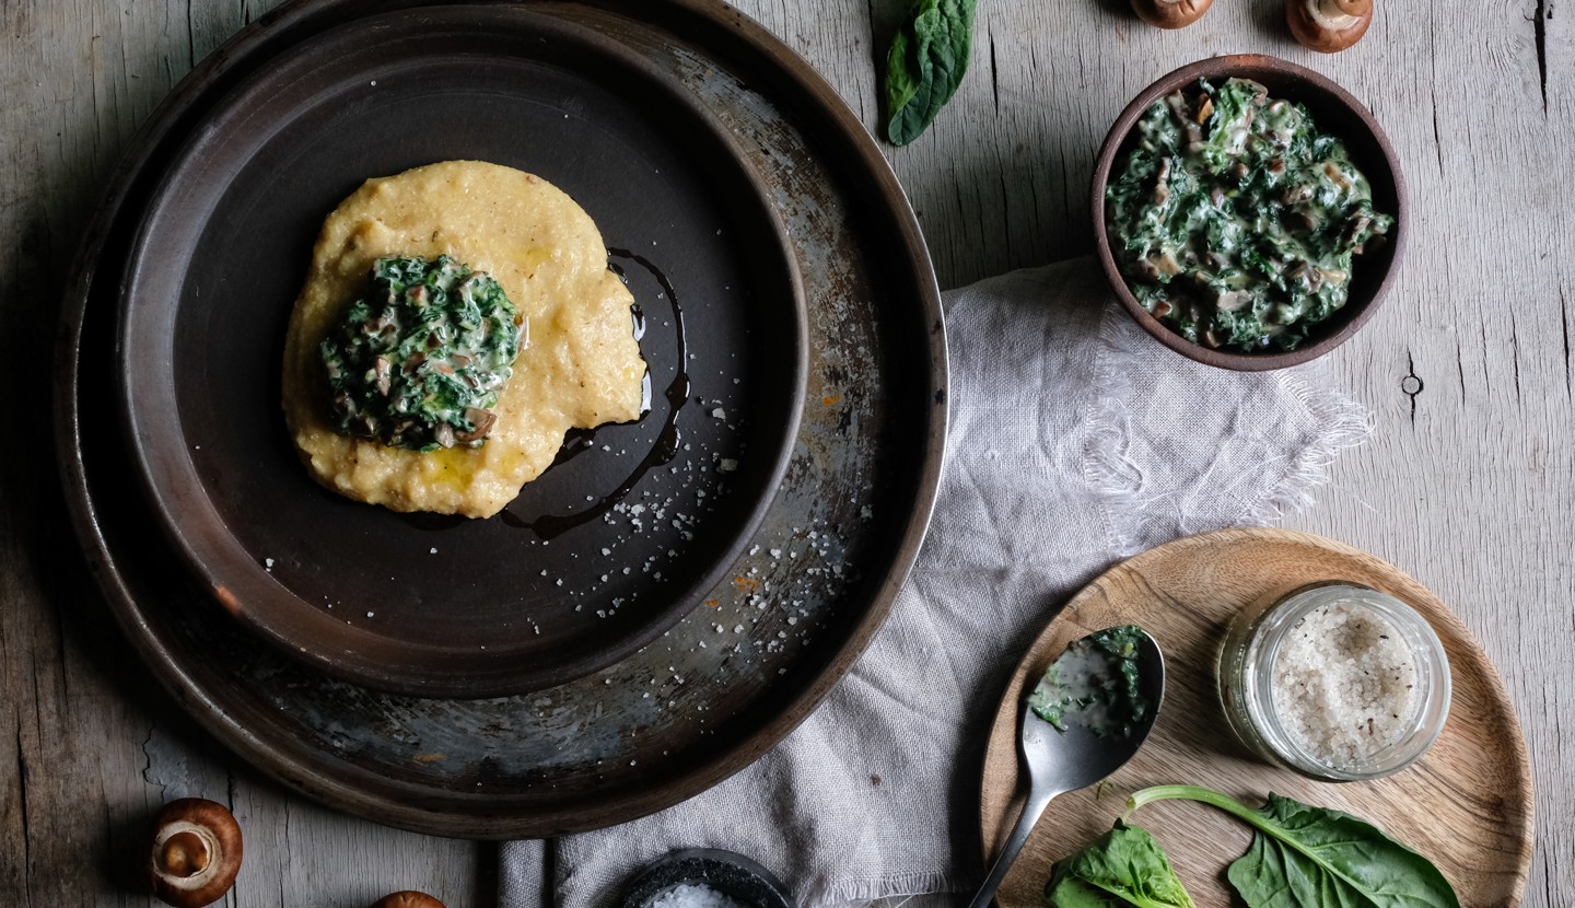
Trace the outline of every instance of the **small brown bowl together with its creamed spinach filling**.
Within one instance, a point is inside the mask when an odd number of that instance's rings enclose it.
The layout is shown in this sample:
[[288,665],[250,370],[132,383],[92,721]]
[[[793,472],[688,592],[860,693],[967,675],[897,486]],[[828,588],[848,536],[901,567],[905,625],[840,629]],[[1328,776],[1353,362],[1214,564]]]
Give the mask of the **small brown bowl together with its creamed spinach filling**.
[[1154,82],[1095,172],[1101,262],[1173,350],[1277,369],[1345,340],[1388,288],[1403,184],[1372,115],[1273,57],[1219,57]]

